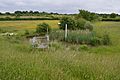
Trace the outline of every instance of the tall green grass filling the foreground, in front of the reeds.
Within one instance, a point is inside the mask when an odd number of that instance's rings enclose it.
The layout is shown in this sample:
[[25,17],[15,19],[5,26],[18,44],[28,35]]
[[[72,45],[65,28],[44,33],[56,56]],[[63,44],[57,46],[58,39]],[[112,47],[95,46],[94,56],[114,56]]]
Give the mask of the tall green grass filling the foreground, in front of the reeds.
[[19,43],[0,40],[1,80],[120,79],[120,55],[81,52],[56,41],[43,51],[32,49],[24,39]]

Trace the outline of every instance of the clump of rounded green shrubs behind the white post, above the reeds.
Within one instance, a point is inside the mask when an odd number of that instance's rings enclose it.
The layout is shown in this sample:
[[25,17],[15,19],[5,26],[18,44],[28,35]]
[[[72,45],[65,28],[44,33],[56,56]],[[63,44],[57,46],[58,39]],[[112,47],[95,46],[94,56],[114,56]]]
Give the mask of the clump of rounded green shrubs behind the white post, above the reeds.
[[93,30],[93,25],[90,22],[87,22],[85,19],[75,19],[71,17],[63,17],[60,20],[60,29],[65,30],[65,25],[68,25],[68,30]]

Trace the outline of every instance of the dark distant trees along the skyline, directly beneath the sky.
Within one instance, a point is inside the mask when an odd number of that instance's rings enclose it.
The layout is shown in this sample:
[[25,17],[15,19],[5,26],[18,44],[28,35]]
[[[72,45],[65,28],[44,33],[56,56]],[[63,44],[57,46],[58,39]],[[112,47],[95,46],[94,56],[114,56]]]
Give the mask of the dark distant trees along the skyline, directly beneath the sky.
[[[84,18],[87,18],[89,20],[89,17],[91,18],[95,18],[97,16],[95,16],[96,14],[102,18],[115,18],[117,16],[120,16],[119,14],[116,14],[116,13],[111,13],[111,14],[99,14],[99,13],[94,13],[94,12],[89,12],[87,10],[79,10],[81,15],[84,15]],[[85,14],[84,14],[85,13]],[[0,12],[0,15],[51,15],[51,14],[54,14],[54,15],[74,15],[74,14],[60,14],[60,13],[54,13],[54,12],[40,12],[40,11],[15,11],[15,12],[5,12],[5,13],[2,13]]]

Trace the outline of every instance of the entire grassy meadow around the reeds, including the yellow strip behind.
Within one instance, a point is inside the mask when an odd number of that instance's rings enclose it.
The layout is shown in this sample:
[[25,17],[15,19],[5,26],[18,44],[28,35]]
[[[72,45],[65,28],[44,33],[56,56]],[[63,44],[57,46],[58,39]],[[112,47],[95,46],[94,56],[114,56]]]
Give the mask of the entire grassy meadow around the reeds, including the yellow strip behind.
[[[44,21],[1,21],[0,27],[35,29]],[[59,21],[46,21],[58,28]],[[120,22],[96,22],[94,31],[109,33],[112,44],[86,48],[52,41],[33,49],[21,36],[0,36],[0,80],[120,80]]]

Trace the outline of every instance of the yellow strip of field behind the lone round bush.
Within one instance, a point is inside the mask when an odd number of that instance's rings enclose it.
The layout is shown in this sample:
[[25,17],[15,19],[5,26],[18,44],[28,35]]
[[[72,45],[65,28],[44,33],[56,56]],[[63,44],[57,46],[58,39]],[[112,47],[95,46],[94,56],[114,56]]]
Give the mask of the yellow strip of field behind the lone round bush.
[[58,20],[28,20],[28,21],[0,21],[0,27],[15,27],[21,29],[34,29],[40,23],[48,23],[51,28],[58,28]]

